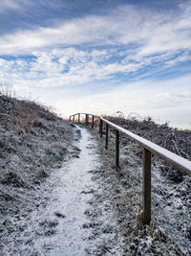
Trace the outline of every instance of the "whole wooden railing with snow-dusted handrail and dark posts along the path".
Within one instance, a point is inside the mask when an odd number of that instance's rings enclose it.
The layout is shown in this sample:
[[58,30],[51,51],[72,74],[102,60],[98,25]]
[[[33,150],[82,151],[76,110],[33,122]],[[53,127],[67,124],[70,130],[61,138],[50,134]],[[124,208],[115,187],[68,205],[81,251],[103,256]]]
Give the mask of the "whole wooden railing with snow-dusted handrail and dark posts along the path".
[[100,137],[103,135],[103,124],[105,124],[105,148],[108,149],[108,132],[109,128],[116,130],[116,170],[119,169],[119,132],[125,134],[130,139],[136,141],[143,148],[143,224],[149,224],[151,221],[151,154],[154,153],[159,158],[165,160],[168,164],[178,168],[184,175],[191,176],[191,162],[181,157],[180,155],[167,151],[164,148],[159,147],[155,143],[146,140],[135,133],[117,126],[116,124],[104,119],[101,116],[96,116],[87,113],[76,113],[70,116],[69,121],[74,122],[75,116],[77,116],[77,122],[80,123],[81,115],[85,115],[85,123],[89,124],[89,117],[92,116],[92,128],[95,125],[95,119],[99,121],[99,133]]

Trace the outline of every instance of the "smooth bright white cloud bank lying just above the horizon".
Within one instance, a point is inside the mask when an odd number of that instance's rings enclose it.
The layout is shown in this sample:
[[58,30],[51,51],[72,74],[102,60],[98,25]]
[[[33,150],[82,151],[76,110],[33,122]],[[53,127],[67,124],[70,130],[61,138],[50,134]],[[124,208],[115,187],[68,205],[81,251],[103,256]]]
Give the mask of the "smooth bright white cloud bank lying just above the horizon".
[[[141,116],[153,116],[158,122],[160,117],[161,123],[167,120],[174,126],[190,128],[190,80],[187,76],[171,81],[132,82],[104,93],[86,96],[74,93],[68,99],[62,95],[55,105],[65,117],[78,111],[114,114],[120,110],[125,116],[137,112]],[[181,88],[180,84],[185,87]]]

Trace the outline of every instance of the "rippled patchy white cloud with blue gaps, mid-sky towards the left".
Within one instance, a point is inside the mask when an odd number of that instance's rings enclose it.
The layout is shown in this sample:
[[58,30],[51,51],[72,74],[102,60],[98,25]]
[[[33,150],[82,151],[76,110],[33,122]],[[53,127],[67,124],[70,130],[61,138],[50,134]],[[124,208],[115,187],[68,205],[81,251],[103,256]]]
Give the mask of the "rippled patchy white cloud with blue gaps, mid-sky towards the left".
[[[50,52],[33,52],[32,60],[4,60],[0,58],[1,80],[17,83],[23,80],[37,81],[43,87],[82,84],[84,82],[106,80],[118,72],[130,73],[140,66],[139,63],[108,63],[114,50],[83,51],[74,48],[54,49]],[[16,76],[16,77],[15,77]]]

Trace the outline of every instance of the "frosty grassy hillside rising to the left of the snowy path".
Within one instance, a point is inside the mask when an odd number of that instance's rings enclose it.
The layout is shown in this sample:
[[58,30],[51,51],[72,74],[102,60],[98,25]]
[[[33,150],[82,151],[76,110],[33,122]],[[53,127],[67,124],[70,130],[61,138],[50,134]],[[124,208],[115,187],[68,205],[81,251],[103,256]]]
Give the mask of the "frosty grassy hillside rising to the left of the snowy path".
[[42,203],[41,184],[69,157],[70,130],[46,106],[0,94],[0,251],[24,229],[17,221]]

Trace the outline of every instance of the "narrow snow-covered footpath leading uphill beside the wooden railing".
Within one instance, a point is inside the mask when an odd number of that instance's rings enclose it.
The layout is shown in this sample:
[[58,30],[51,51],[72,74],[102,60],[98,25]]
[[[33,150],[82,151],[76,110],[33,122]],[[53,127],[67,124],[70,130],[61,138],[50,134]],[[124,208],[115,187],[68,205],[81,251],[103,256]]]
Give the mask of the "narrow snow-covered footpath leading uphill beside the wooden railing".
[[[78,129],[81,133],[81,139],[76,142],[79,155],[53,174],[55,177],[52,176],[49,182],[54,179],[56,185],[51,201],[32,216],[32,222],[48,228],[47,235],[37,236],[33,243],[33,252],[37,255],[85,255],[90,231],[83,228],[87,221],[84,212],[89,206],[88,200],[92,198],[91,191],[96,189],[90,171],[98,168],[98,154],[96,141],[90,132],[85,128]],[[27,251],[24,251],[22,255],[26,255]]]

